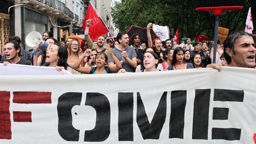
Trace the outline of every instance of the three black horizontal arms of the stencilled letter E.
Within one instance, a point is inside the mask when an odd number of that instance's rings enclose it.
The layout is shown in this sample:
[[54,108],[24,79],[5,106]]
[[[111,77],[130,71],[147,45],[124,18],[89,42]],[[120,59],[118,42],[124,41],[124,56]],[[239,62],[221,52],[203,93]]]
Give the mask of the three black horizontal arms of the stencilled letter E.
[[[244,91],[243,90],[230,90],[230,89],[214,89],[214,101],[232,101],[232,102],[243,102]],[[228,109],[216,108],[213,112],[213,119],[227,119]],[[226,112],[225,112],[226,110]],[[222,140],[240,140],[241,129],[236,128],[212,128],[211,139],[222,139]]]

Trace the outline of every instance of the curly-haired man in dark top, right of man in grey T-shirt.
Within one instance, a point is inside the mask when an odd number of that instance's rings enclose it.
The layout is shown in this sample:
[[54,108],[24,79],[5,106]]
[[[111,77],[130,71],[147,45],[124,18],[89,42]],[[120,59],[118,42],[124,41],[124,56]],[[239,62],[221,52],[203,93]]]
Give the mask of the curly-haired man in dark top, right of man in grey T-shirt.
[[143,48],[140,47],[141,35],[139,33],[134,33],[131,37],[132,45],[137,54],[137,65],[141,64]]

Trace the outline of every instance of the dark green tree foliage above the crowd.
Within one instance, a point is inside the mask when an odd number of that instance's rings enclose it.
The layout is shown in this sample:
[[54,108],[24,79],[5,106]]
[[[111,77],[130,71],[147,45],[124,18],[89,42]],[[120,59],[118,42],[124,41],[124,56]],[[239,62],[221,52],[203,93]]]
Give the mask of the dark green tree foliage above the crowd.
[[[245,30],[245,21],[249,7],[256,31],[256,0],[247,0],[244,9],[223,11],[219,26],[226,27],[230,33]],[[169,26],[174,32],[182,30],[183,36],[195,38],[199,34],[214,37],[215,15],[211,11],[196,11],[192,0],[184,0],[182,17],[182,0],[122,0],[115,2],[111,14],[113,22],[120,31],[127,31],[131,25],[146,27],[148,22]],[[181,33],[180,37],[181,36]]]

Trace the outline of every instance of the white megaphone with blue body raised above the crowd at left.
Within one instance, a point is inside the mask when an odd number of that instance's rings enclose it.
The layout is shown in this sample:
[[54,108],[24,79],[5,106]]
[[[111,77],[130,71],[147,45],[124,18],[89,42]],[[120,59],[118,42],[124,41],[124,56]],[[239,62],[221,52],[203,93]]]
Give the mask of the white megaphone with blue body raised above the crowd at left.
[[[41,50],[44,48],[47,48],[49,46],[49,44],[47,42],[42,40],[41,34],[36,31],[30,32],[26,36],[25,42],[29,47],[36,47],[37,45],[39,45],[39,49],[41,49]],[[32,52],[33,55],[35,53],[37,53],[37,50],[34,50]]]

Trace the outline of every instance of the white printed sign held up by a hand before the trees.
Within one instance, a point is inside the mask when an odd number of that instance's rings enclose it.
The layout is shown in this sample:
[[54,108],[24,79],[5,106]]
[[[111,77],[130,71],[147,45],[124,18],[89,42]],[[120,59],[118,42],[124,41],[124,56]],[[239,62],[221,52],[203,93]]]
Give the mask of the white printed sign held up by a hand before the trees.
[[160,25],[153,24],[152,28],[162,41],[169,39],[170,32],[169,32],[168,26],[160,26]]

